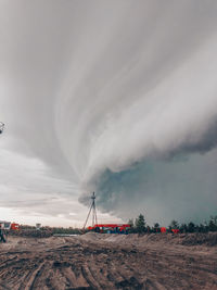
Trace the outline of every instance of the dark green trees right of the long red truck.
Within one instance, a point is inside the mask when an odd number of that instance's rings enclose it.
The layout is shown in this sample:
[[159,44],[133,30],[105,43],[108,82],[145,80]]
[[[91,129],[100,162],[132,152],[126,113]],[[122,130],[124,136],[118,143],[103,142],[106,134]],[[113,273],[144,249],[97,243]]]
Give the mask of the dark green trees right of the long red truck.
[[[144,215],[140,214],[135,220],[129,219],[128,224],[130,224],[129,232],[131,234],[142,234],[142,232],[161,232],[159,223],[155,223],[153,227],[150,227],[144,218]],[[217,231],[217,215],[210,216],[209,220],[204,224],[194,224],[190,222],[188,224],[180,224],[177,220],[171,220],[169,226],[167,227],[167,232],[173,232],[173,229],[178,229],[179,232],[208,232],[208,231]]]

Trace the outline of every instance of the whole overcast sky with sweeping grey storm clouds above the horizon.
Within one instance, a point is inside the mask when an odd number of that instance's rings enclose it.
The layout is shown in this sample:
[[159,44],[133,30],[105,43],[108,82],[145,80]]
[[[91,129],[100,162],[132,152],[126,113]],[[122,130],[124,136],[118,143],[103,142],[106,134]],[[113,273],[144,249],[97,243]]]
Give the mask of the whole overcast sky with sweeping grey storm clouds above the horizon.
[[0,0],[0,219],[217,214],[215,0]]

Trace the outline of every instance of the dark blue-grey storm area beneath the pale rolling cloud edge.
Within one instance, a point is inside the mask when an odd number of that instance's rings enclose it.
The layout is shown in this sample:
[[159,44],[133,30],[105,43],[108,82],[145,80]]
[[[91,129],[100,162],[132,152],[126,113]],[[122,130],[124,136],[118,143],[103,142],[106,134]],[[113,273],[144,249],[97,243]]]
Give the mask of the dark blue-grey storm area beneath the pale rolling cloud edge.
[[217,210],[216,171],[216,150],[105,171],[95,180],[98,207],[126,219],[143,213],[149,224],[204,222]]

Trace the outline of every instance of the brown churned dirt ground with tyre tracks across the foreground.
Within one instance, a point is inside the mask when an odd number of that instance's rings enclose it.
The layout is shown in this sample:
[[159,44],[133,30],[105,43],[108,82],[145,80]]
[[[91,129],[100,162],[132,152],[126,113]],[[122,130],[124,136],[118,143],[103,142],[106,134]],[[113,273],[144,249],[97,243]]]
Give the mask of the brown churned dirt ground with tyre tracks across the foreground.
[[103,235],[0,243],[0,290],[217,289],[217,234]]

